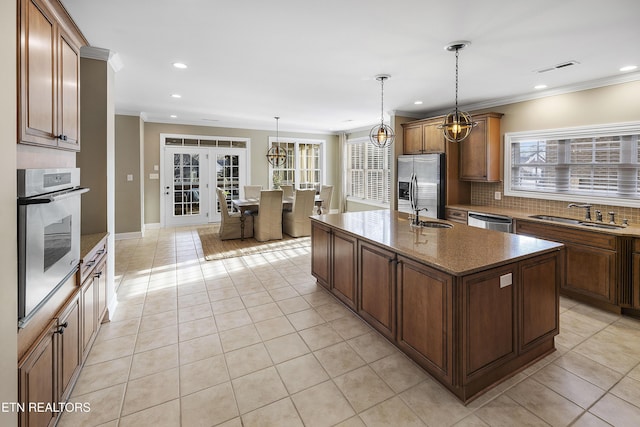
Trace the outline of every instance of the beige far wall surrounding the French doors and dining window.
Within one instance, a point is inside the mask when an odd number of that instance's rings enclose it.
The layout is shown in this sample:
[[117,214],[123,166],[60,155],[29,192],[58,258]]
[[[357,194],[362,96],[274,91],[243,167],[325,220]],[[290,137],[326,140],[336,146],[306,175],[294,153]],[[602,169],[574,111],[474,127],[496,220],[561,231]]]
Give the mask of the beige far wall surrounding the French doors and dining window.
[[[269,137],[275,137],[275,123],[273,130],[254,130],[254,129],[233,129],[233,128],[216,128],[206,126],[191,125],[174,125],[168,123],[145,123],[144,124],[144,223],[158,224],[160,219],[160,181],[150,179],[149,174],[160,174],[160,134],[184,134],[184,135],[203,135],[203,136],[224,136],[251,139],[251,152],[249,154],[250,163],[250,182],[256,185],[262,185],[268,188],[270,185],[268,174],[269,165],[267,163],[266,154],[269,144]],[[325,141],[326,148],[326,184],[334,185],[334,191],[340,187],[339,184],[339,144],[337,135],[329,134],[305,134],[280,131],[279,136],[282,138],[301,138],[301,139],[321,139]],[[157,165],[159,170],[155,170]],[[338,206],[338,197],[333,197],[331,207],[336,209]]]

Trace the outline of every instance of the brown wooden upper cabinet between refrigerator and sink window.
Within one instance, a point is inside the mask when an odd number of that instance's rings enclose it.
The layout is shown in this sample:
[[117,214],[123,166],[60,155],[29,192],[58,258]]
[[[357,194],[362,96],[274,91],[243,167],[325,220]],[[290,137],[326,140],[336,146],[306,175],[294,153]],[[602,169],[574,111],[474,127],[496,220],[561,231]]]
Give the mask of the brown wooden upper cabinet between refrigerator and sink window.
[[500,118],[502,114],[472,116],[478,125],[460,143],[460,179],[463,181],[499,182]]

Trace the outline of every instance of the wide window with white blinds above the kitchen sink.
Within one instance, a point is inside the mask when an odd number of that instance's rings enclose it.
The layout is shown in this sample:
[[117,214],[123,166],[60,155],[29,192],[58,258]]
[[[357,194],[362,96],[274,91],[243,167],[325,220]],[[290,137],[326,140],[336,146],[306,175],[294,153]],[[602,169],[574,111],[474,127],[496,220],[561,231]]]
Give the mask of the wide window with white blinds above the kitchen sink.
[[505,195],[640,206],[640,123],[505,135]]

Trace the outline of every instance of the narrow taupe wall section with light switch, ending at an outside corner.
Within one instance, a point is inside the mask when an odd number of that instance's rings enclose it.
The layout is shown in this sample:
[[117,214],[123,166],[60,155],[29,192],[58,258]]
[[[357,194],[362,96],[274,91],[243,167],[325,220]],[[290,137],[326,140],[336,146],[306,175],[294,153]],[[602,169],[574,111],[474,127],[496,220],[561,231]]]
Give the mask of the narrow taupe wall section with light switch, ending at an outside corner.
[[[138,212],[142,209],[140,189],[140,127],[137,116],[116,115],[115,162],[115,230],[116,234],[140,233],[142,223]],[[133,180],[128,181],[131,175]]]

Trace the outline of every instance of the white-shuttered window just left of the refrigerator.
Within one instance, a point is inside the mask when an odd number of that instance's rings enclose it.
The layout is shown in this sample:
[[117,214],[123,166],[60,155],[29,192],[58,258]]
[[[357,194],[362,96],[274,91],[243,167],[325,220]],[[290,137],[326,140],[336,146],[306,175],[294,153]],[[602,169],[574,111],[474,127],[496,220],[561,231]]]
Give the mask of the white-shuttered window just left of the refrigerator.
[[389,204],[391,147],[375,147],[369,138],[347,141],[347,196]]

